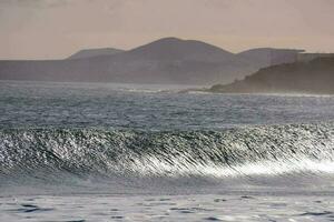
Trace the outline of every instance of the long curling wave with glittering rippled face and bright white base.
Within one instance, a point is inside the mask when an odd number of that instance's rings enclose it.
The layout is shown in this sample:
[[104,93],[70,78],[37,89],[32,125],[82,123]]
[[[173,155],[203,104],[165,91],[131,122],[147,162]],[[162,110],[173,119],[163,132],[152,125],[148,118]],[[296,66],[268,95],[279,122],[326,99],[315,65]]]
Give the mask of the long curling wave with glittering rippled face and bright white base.
[[1,181],[60,174],[228,179],[334,173],[334,125],[222,131],[4,129]]

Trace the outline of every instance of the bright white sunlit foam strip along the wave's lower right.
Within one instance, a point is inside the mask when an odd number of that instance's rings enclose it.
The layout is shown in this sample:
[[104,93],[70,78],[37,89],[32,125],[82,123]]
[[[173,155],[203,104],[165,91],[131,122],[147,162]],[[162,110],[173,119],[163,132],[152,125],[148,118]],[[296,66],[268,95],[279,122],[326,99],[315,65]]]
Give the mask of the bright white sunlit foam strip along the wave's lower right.
[[[171,164],[173,163],[173,164]],[[287,173],[334,173],[333,160],[299,159],[248,162],[237,165],[214,163],[189,163],[185,158],[174,158],[170,163],[155,157],[147,155],[136,160],[130,167],[141,175],[203,175],[213,178],[227,178],[240,175],[281,175]]]

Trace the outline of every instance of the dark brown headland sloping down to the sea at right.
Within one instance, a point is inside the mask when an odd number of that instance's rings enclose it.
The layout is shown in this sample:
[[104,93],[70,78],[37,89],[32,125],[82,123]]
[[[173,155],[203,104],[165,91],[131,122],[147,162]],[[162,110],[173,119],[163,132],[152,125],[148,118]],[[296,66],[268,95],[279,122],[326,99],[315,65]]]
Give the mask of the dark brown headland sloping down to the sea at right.
[[209,91],[334,94],[334,57],[264,68],[242,81],[216,84]]

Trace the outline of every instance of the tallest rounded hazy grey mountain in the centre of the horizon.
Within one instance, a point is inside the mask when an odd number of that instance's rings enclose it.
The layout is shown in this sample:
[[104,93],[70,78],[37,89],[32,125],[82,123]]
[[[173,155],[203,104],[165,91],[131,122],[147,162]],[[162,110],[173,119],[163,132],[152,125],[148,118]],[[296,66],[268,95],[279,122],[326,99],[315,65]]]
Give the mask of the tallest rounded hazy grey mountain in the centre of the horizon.
[[255,71],[234,53],[205,42],[177,38],[160,39],[118,53],[112,60],[105,58],[105,63],[109,73],[116,73],[115,81],[139,83],[232,82]]

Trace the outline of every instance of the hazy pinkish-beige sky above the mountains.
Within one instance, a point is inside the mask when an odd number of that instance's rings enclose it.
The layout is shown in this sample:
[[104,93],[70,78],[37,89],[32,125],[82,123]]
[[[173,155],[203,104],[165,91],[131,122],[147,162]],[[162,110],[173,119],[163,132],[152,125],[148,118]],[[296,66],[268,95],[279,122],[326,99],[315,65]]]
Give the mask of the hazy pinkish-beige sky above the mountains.
[[163,37],[238,52],[334,51],[334,0],[0,0],[0,59],[130,49]]

